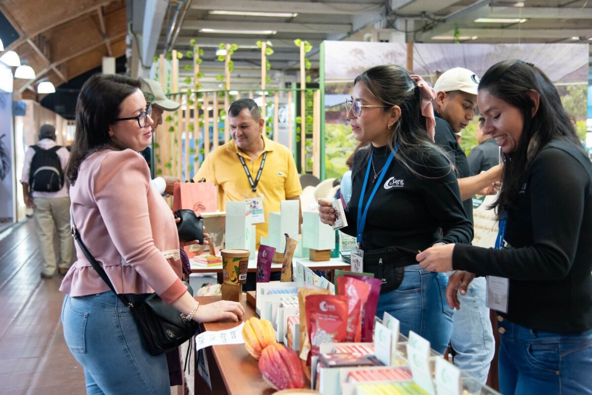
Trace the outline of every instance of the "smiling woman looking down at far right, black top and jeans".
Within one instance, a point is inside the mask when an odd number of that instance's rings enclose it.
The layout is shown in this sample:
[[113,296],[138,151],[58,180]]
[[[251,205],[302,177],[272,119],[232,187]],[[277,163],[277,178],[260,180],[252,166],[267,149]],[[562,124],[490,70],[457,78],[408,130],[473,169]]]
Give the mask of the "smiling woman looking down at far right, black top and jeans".
[[447,293],[456,309],[459,290],[475,274],[489,276],[501,393],[592,394],[592,164],[538,67],[495,64],[477,103],[483,133],[504,154],[496,248],[451,244],[417,260],[427,270],[456,270]]

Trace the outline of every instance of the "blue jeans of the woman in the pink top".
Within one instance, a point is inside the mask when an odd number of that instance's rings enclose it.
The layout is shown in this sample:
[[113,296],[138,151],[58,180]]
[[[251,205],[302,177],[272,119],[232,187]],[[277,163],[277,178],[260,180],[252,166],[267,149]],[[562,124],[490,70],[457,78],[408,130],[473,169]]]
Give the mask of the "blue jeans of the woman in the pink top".
[[130,309],[112,292],[66,295],[62,324],[87,394],[170,394],[166,355],[148,354]]

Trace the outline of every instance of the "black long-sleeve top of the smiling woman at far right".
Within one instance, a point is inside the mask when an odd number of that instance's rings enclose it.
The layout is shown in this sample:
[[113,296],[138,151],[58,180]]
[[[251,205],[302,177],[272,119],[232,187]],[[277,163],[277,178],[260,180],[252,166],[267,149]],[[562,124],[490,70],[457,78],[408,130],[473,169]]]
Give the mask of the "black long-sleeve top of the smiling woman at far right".
[[503,316],[541,331],[592,328],[592,164],[569,150],[545,147],[530,164],[507,213],[510,249],[456,245],[452,257],[455,269],[509,278]]

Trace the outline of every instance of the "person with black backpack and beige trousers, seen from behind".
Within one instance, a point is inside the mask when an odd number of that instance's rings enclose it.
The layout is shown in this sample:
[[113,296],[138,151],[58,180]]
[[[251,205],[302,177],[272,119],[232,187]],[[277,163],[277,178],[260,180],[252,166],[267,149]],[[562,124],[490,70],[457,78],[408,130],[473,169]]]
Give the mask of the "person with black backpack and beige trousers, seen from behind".
[[[64,171],[70,153],[56,144],[56,128],[42,125],[39,142],[25,153],[22,166],[22,195],[28,208],[34,209],[35,228],[43,254],[42,279],[53,277],[56,266],[66,274],[72,261],[70,236],[70,198]],[[60,239],[59,260],[53,248],[54,226]]]

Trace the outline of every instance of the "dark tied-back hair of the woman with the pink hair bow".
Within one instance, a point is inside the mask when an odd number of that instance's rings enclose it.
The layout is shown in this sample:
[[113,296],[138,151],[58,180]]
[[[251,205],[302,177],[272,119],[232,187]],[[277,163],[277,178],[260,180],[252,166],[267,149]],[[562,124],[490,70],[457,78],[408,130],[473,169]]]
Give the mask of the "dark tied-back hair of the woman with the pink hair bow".
[[[450,163],[448,154],[433,144],[427,134],[426,117],[422,115],[420,107],[419,88],[407,70],[400,66],[375,66],[357,76],[353,85],[356,83],[363,83],[378,101],[390,106],[384,108],[384,112],[391,111],[394,105],[401,108],[401,116],[388,136],[388,148],[391,152],[394,153],[394,147],[399,147],[394,156],[395,160],[420,177],[426,177],[426,175],[418,173],[417,167],[414,166],[418,163],[412,158],[417,158],[417,154],[421,157],[427,152],[436,151]],[[369,158],[370,152],[371,150],[367,150],[366,159]],[[352,172],[359,171],[365,163],[368,161],[355,163]],[[419,165],[426,166],[425,163],[419,163]]]

